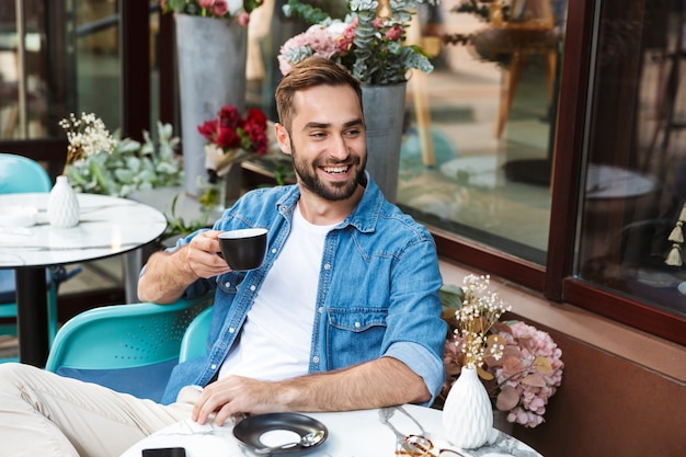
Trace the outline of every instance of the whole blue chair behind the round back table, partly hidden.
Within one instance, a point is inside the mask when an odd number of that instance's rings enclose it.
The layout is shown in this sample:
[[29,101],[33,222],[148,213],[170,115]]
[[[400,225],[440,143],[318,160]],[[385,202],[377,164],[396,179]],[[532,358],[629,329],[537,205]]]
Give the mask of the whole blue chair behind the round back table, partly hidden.
[[[35,160],[12,153],[0,153],[0,194],[24,192],[50,192],[50,176]],[[80,269],[67,273],[64,267],[52,269],[46,275],[48,290],[48,332],[53,341],[57,331],[57,290]],[[0,324],[0,334],[16,335],[16,299],[14,270],[0,270],[0,319],[11,323]],[[0,363],[16,361],[16,357],[0,358]]]

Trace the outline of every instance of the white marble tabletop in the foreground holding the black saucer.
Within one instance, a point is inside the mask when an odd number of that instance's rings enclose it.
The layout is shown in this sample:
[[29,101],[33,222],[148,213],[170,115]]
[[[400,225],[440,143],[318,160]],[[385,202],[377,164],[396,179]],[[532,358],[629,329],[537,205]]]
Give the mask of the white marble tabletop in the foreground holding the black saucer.
[[[450,448],[465,457],[541,457],[526,444],[493,430],[492,442],[477,449],[460,449],[443,437],[442,411],[404,404],[381,410],[348,412],[305,413],[323,423],[329,437],[317,448],[307,453],[278,454],[312,457],[391,457],[396,456],[397,443],[408,434],[430,438],[437,449]],[[272,444],[272,443],[271,443]],[[191,420],[163,429],[127,449],[121,457],[140,457],[142,449],[184,447],[187,457],[240,457],[253,456],[240,446],[232,434],[232,425],[198,425]]]

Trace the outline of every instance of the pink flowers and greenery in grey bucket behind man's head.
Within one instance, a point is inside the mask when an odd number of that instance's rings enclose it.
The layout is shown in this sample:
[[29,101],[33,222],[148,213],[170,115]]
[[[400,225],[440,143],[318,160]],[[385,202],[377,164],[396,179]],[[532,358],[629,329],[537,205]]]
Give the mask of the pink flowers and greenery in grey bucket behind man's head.
[[396,201],[398,187],[410,70],[428,73],[434,69],[426,53],[408,39],[412,18],[422,3],[438,1],[347,0],[344,19],[333,19],[298,0],[289,0],[284,7],[287,16],[299,15],[313,25],[282,46],[282,73],[318,55],[341,64],[362,82],[367,170],[391,202]]

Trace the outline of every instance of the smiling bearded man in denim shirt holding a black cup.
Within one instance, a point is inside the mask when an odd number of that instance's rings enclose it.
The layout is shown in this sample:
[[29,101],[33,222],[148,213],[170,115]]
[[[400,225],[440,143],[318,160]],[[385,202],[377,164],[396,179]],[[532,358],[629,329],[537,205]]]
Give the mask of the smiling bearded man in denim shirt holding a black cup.
[[[365,172],[357,80],[312,57],[284,77],[276,103],[297,184],[249,192],[211,230],[151,255],[140,276],[144,301],[216,290],[207,356],[174,369],[164,404],[0,366],[10,455],[114,456],[188,416],[221,424],[236,413],[433,401],[446,335],[436,249]],[[268,230],[266,259],[232,271],[217,237],[250,227]]]

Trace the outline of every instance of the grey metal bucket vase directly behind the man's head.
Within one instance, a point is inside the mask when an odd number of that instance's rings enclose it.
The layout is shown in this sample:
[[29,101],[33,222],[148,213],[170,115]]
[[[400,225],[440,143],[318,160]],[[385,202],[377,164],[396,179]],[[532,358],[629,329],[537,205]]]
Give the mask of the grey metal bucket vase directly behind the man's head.
[[367,132],[367,171],[391,203],[396,203],[398,195],[407,87],[407,82],[362,85]]

